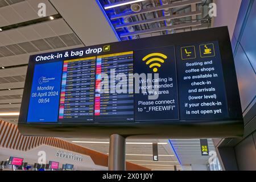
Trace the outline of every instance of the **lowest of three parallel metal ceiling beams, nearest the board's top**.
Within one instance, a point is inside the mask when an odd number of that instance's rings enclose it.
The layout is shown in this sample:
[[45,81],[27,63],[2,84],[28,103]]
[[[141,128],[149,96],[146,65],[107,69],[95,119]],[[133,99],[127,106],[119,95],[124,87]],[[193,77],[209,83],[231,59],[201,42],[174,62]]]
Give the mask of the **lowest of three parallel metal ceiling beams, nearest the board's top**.
[[123,33],[123,34],[120,34],[120,37],[124,38],[126,36],[148,34],[148,33],[172,30],[172,29],[177,29],[177,28],[195,27],[195,26],[200,26],[200,25],[201,25],[201,22],[191,22],[191,23],[175,24],[173,26],[151,28],[151,29],[147,29],[147,30],[140,30],[140,31],[135,31],[135,32]]

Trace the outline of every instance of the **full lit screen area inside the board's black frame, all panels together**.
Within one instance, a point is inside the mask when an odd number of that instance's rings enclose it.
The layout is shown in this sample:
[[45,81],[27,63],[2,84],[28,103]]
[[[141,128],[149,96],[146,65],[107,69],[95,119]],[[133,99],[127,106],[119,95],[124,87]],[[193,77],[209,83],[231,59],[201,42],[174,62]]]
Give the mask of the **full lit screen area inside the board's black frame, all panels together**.
[[36,63],[27,122],[225,119],[223,77],[217,41]]

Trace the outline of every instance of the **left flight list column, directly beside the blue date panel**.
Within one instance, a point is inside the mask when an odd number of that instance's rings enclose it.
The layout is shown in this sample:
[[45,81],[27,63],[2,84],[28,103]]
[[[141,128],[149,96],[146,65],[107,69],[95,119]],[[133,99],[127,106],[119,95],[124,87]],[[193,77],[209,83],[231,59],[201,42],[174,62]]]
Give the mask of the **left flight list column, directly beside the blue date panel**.
[[96,57],[63,64],[59,121],[93,121]]

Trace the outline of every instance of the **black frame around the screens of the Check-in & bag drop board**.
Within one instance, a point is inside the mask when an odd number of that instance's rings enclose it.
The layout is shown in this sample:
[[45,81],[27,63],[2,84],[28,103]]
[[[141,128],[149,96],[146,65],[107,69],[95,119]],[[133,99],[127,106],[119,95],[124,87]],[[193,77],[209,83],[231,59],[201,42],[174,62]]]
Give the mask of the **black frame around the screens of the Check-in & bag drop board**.
[[[34,75],[35,57],[46,56],[49,53],[30,56],[26,84],[23,91],[22,106],[20,108],[18,128],[23,135],[37,135],[47,137],[77,137],[77,138],[108,138],[112,134],[133,138],[214,138],[214,137],[242,137],[243,119],[240,95],[237,84],[236,69],[234,65],[232,46],[228,27],[209,28],[183,32],[179,34],[154,36],[150,38],[135,39],[125,42],[101,44],[97,46],[82,47],[57,51],[81,51],[110,45],[109,52],[101,52],[97,56],[118,52],[136,51],[154,47],[177,46],[188,43],[218,41],[220,47],[221,63],[226,90],[226,102],[229,118],[204,119],[185,122],[177,121],[143,121],[143,122],[86,122],[86,123],[27,123],[28,104]],[[51,53],[51,52],[50,52]],[[88,54],[86,57],[96,54]],[[81,57],[72,57],[78,59]],[[59,59],[56,61],[67,60]],[[69,57],[68,60],[71,60]],[[43,62],[42,64],[44,64]],[[37,63],[41,64],[41,63]]]

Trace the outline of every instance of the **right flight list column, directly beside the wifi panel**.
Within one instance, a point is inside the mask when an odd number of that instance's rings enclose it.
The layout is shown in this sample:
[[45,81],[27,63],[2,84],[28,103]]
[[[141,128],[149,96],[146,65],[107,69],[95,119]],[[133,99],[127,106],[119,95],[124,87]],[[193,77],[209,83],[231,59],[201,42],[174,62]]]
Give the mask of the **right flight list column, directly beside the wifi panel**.
[[133,52],[97,57],[95,121],[134,120],[133,90],[129,90],[133,80],[121,80],[129,74],[133,74]]

